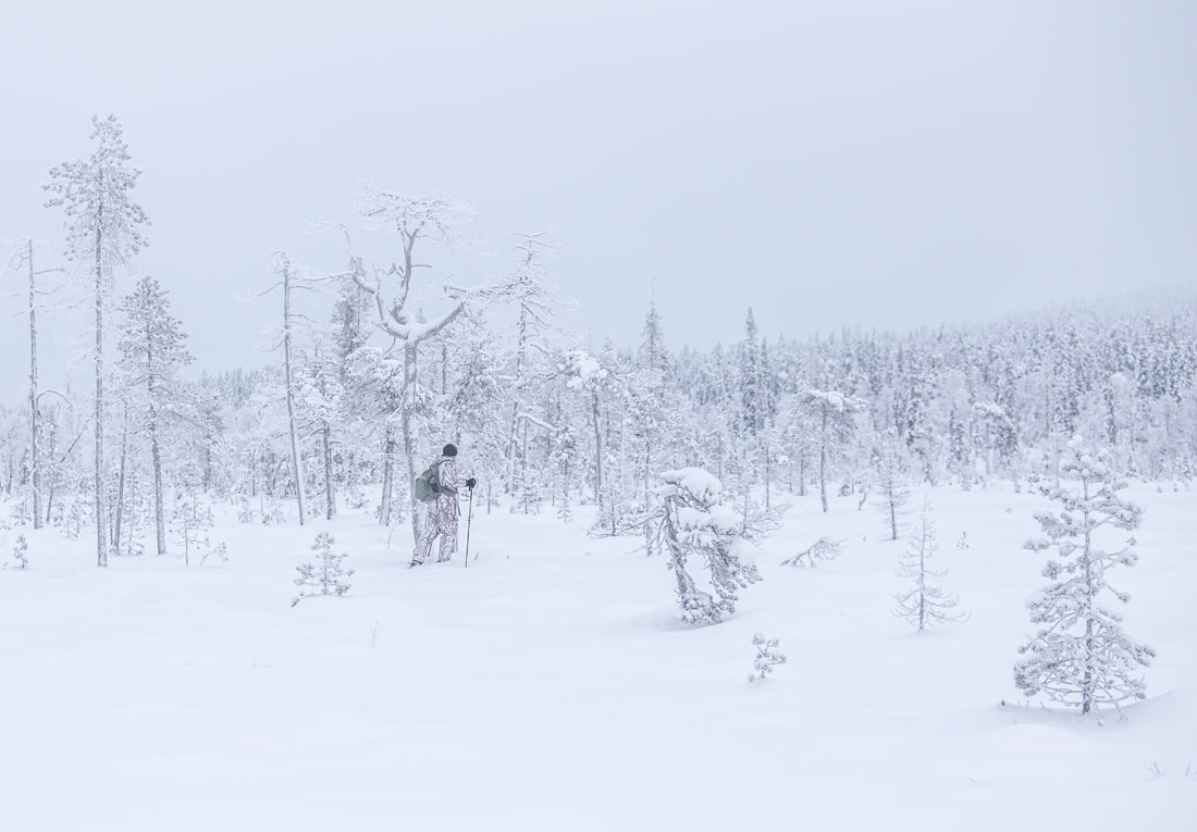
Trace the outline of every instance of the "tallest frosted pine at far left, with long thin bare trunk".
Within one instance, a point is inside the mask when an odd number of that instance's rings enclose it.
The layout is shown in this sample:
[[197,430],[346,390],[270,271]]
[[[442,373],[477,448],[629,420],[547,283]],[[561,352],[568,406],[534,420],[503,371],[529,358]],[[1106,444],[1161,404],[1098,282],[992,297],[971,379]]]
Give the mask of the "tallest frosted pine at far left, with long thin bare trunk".
[[129,198],[141,171],[129,164],[129,150],[116,116],[91,120],[95,152],[78,162],[63,162],[50,169],[45,190],[54,196],[47,207],[61,206],[66,214],[67,256],[90,263],[95,277],[96,308],[96,394],[95,509],[96,564],[108,566],[108,533],[104,528],[104,299],[113,284],[114,269],[145,245],[141,226],[148,224],[145,211]]

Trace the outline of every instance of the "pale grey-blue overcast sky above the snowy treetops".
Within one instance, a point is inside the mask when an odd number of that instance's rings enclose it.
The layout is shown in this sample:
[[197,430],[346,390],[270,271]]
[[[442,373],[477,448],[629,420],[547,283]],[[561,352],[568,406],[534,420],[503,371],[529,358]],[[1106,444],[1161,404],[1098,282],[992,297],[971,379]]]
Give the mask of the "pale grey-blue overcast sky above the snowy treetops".
[[153,220],[129,277],[211,369],[265,360],[274,304],[233,298],[272,250],[342,265],[305,229],[363,181],[476,207],[458,283],[552,230],[596,338],[637,339],[654,278],[674,347],[749,305],[768,335],[986,320],[1197,283],[1195,43],[1184,0],[6,1],[0,237],[61,249],[40,186],[115,113]]

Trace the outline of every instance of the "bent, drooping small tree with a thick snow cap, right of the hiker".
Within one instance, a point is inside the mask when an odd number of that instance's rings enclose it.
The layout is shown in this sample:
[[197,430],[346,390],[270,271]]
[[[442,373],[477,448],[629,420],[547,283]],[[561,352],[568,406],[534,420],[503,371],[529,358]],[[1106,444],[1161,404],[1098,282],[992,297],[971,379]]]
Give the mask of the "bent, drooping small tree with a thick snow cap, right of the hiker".
[[[743,520],[719,503],[722,485],[701,468],[667,470],[661,478],[658,535],[678,581],[682,620],[699,625],[725,621],[736,612],[737,590],[760,581],[757,567],[742,559]],[[713,595],[700,589],[686,571],[691,555],[703,558]]]

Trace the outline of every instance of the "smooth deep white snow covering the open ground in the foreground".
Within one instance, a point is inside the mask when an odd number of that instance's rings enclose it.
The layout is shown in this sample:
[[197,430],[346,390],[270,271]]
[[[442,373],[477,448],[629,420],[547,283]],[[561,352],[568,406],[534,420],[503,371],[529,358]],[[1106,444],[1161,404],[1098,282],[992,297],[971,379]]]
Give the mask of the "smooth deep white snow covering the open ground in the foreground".
[[[1046,502],[929,494],[931,565],[972,618],[923,633],[891,612],[904,543],[855,498],[795,498],[764,581],[705,628],[663,558],[582,512],[476,514],[468,570],[408,570],[407,528],[388,547],[367,510],[230,511],[220,567],[99,570],[86,530],[5,532],[0,563],[23,532],[30,565],[0,571],[0,830],[1197,828],[1197,490],[1130,491],[1141,560],[1111,583],[1159,657],[1101,721],[1013,685]],[[322,530],[352,589],[292,608]],[[779,565],[821,535],[839,559]],[[749,684],[755,632],[789,662]]]

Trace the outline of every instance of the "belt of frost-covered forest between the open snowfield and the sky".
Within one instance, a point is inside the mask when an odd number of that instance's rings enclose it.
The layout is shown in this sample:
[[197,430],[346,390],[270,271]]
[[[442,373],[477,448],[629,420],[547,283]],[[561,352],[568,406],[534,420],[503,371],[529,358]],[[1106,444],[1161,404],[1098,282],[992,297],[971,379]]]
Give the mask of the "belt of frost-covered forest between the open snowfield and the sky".
[[[745,309],[743,338],[707,351],[672,345],[667,310],[645,303],[640,341],[613,344],[564,327],[549,235],[512,235],[499,280],[442,286],[438,253],[468,244],[469,206],[377,188],[329,230],[342,262],[275,253],[263,291],[278,303],[277,360],[208,372],[187,347],[188,310],[133,278],[147,218],[120,125],[96,120],[92,140],[48,177],[65,244],[11,245],[7,279],[28,281],[30,387],[0,409],[0,487],[11,523],[97,529],[101,564],[108,549],[166,552],[214,503],[300,524],[369,505],[418,536],[412,484],[446,442],[486,511],[567,521],[593,505],[595,535],[645,534],[660,474],[685,467],[717,476],[746,523],[792,497],[863,505],[895,481],[1058,481],[1075,435],[1132,479],[1197,473],[1192,297],[808,338],[761,333]],[[370,261],[361,235],[389,256]],[[298,293],[323,317],[296,311]],[[51,304],[91,310],[86,388],[40,371]]]

